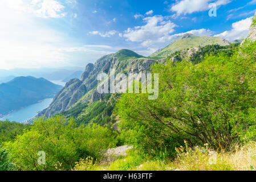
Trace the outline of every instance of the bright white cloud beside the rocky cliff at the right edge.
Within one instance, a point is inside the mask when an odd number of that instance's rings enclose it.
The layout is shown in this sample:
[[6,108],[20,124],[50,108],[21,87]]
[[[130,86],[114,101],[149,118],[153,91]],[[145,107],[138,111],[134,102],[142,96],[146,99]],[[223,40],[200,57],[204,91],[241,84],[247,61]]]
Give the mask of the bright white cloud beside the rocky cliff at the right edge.
[[232,24],[232,29],[222,32],[214,36],[220,36],[226,40],[232,41],[235,39],[245,38],[249,34],[249,28],[252,23],[252,17],[242,19],[239,22]]

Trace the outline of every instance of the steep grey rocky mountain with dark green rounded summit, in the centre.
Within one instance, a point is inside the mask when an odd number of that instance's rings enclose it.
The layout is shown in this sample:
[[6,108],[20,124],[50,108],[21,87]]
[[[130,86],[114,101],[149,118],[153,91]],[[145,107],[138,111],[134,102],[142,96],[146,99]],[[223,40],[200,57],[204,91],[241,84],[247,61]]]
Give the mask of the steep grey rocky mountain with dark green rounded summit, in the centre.
[[[155,60],[144,58],[128,49],[123,49],[115,54],[106,55],[96,61],[95,64],[88,64],[81,81],[73,79],[55,96],[51,105],[43,110],[38,116],[45,114],[46,117],[71,109],[80,103],[95,102],[106,94],[99,94],[97,88],[97,76],[100,73],[107,75],[117,73],[139,73],[150,70]],[[111,72],[115,69],[115,73]],[[75,105],[74,105],[75,104]],[[72,107],[71,107],[72,106]]]

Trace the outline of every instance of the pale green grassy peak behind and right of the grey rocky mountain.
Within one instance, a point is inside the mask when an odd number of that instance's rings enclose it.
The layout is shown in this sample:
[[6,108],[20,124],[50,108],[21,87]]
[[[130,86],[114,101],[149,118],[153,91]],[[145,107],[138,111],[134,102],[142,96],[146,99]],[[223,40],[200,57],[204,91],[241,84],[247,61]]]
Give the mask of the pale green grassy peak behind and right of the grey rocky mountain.
[[190,49],[194,47],[204,47],[208,45],[218,44],[220,46],[229,46],[230,43],[217,36],[196,36],[193,34],[184,34],[180,36],[173,43],[169,44],[169,46],[160,49],[159,51],[153,53],[151,58],[162,59],[166,58],[172,53],[177,51],[183,51],[184,49]]

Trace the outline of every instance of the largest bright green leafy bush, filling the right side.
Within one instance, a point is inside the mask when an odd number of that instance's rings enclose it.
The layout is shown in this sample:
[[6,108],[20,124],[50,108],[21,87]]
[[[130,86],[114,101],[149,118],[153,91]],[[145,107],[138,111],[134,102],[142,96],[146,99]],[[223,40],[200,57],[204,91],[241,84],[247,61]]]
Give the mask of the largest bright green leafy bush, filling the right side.
[[256,42],[247,43],[231,57],[221,53],[197,65],[154,65],[159,98],[124,94],[117,103],[127,142],[152,155],[166,149],[172,153],[184,140],[189,146],[209,143],[230,150],[247,131],[255,134],[255,49]]

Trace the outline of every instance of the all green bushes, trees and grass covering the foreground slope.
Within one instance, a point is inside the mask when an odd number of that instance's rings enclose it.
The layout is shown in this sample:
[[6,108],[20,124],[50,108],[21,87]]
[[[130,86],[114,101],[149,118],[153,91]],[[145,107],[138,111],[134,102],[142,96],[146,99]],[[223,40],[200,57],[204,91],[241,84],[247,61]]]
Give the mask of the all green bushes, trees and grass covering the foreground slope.
[[[0,170],[255,170],[256,42],[200,48],[152,66],[157,100],[108,94],[33,125],[0,122]],[[128,155],[107,159],[123,143]]]

